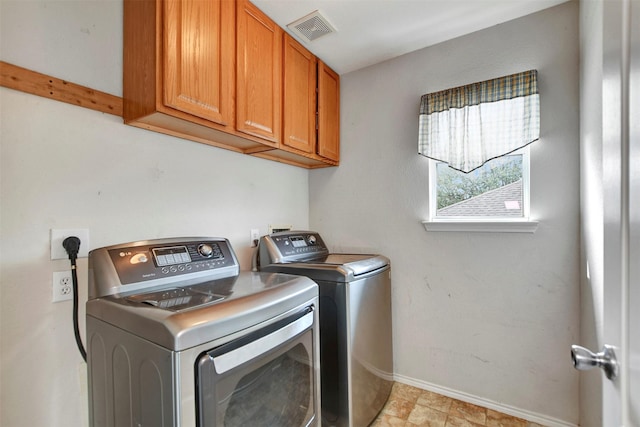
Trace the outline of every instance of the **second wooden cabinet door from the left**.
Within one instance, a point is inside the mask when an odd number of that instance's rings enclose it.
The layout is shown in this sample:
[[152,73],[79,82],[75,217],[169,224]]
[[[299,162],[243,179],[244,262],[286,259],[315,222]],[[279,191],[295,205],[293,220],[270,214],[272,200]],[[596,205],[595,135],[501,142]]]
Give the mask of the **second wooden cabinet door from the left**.
[[282,29],[238,0],[236,129],[273,142],[282,129]]

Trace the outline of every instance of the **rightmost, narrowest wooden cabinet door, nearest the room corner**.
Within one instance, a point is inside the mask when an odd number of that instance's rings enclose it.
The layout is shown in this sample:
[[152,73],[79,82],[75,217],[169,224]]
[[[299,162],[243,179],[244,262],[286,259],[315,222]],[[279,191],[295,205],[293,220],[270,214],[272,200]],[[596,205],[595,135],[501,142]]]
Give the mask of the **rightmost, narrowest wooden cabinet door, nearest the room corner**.
[[340,160],[340,76],[318,61],[318,154]]

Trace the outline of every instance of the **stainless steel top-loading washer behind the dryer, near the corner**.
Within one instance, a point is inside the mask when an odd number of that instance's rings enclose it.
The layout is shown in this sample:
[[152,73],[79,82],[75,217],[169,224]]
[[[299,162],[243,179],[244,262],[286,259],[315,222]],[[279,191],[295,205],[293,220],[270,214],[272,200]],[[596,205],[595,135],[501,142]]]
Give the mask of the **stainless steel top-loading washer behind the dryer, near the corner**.
[[369,425],[393,384],[389,259],[329,253],[312,231],[263,236],[256,255],[260,271],[306,276],[319,286],[322,424]]

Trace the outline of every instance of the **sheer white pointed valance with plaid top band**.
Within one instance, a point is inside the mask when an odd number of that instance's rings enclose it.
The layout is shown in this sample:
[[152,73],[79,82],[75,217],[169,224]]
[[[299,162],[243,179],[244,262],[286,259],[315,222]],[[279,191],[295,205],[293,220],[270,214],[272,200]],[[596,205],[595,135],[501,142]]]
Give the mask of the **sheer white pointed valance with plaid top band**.
[[418,153],[470,172],[540,136],[536,70],[422,96]]

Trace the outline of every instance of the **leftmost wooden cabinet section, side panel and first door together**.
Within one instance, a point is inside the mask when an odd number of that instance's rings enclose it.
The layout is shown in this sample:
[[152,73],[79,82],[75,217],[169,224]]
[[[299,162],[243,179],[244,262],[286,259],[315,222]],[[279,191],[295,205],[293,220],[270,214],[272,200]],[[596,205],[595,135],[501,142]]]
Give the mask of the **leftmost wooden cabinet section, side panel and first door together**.
[[203,140],[233,131],[233,1],[125,0],[123,50],[125,123]]

